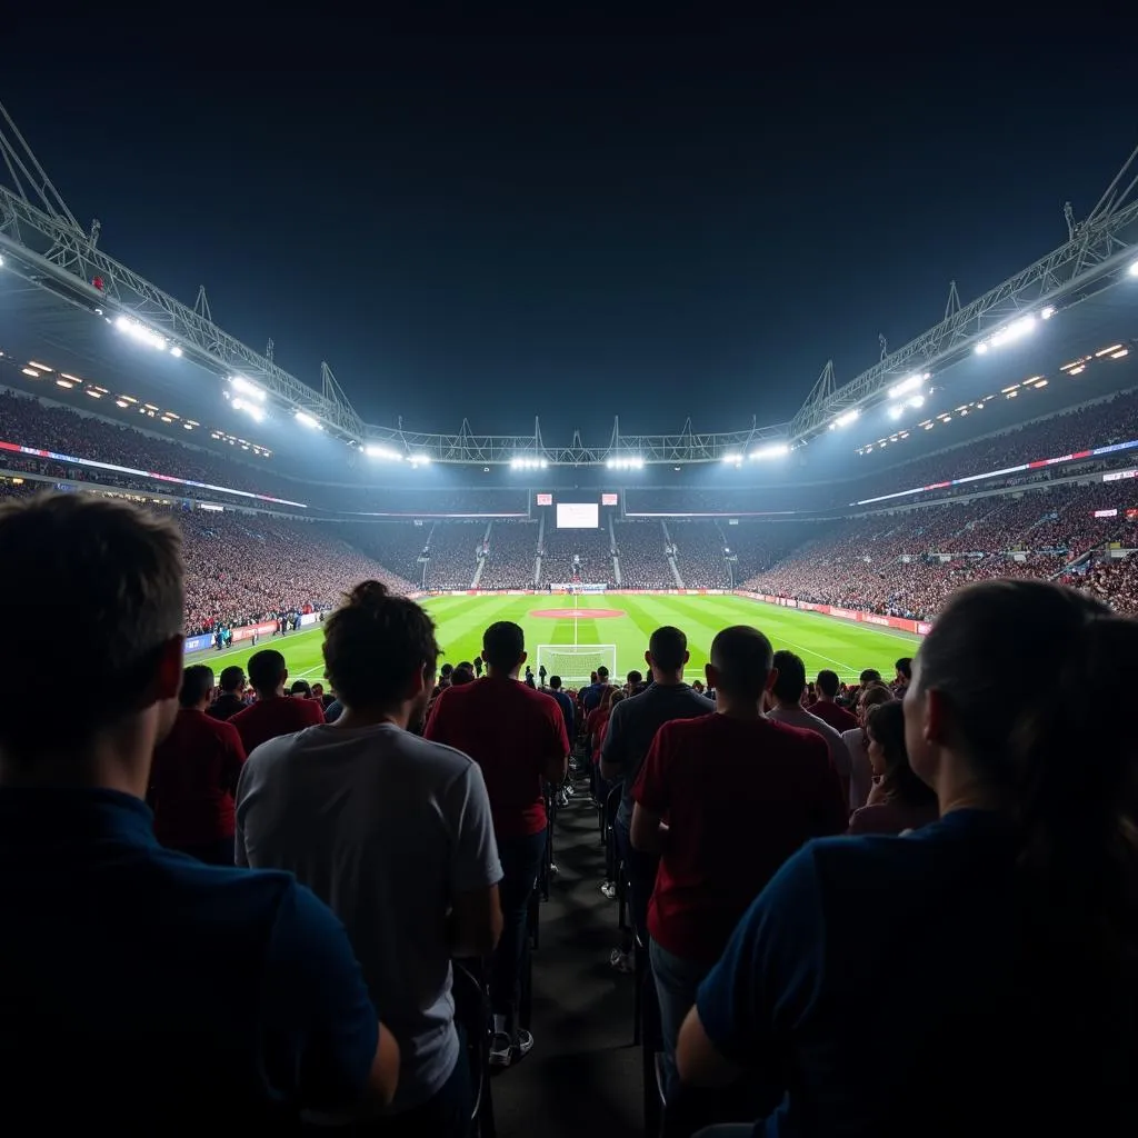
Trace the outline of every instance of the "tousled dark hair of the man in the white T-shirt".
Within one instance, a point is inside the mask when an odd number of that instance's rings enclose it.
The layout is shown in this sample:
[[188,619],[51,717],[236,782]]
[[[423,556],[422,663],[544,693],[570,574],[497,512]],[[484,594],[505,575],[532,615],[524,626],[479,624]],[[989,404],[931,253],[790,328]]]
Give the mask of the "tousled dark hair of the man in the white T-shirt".
[[438,657],[435,621],[378,580],[356,585],[324,622],[328,682],[348,708],[396,702],[413,673],[434,677]]

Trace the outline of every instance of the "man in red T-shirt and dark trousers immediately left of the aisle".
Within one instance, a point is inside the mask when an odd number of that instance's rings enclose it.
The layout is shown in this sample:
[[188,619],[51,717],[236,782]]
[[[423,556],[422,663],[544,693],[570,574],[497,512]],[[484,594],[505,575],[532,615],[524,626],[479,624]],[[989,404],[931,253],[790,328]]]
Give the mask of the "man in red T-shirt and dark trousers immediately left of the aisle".
[[494,1042],[490,1062],[506,1066],[534,1037],[517,1023],[525,964],[526,915],[545,852],[545,783],[566,776],[569,737],[556,700],[520,683],[526,641],[509,620],[483,635],[486,676],[444,688],[424,735],[469,754],[483,769],[502,861],[502,939],[490,968]]

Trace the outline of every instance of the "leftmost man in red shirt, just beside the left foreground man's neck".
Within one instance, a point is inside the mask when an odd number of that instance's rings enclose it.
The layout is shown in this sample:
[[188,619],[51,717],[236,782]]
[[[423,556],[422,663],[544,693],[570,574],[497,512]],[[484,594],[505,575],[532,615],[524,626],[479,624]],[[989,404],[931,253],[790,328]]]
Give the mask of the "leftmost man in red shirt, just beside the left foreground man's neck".
[[212,692],[205,665],[182,674],[178,718],[155,748],[148,797],[163,846],[208,865],[232,865],[233,794],[245,748],[236,727],[206,715]]

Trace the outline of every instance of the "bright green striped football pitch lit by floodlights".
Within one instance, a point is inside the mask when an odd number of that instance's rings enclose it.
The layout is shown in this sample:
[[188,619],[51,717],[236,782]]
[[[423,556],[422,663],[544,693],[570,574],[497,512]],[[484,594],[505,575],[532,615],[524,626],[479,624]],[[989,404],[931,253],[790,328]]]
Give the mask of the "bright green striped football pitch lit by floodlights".
[[[440,663],[472,660],[481,649],[483,629],[495,620],[513,620],[526,633],[529,660],[537,668],[537,645],[608,644],[616,648],[617,674],[644,671],[649,636],[661,625],[676,625],[687,634],[691,663],[688,679],[703,675],[711,640],[728,625],[752,625],[769,637],[775,649],[790,649],[802,658],[808,678],[830,668],[842,679],[855,679],[864,668],[877,668],[891,678],[893,662],[913,655],[920,637],[869,625],[839,620],[816,612],[782,609],[740,596],[655,596],[649,594],[599,594],[594,596],[432,596],[420,603],[434,617]],[[546,613],[546,615],[543,615]],[[249,657],[272,646],[283,653],[292,679],[322,679],[322,632],[319,627],[242,644],[225,651],[196,653],[195,663],[215,670],[229,665],[245,667]],[[568,667],[560,670],[570,674]]]

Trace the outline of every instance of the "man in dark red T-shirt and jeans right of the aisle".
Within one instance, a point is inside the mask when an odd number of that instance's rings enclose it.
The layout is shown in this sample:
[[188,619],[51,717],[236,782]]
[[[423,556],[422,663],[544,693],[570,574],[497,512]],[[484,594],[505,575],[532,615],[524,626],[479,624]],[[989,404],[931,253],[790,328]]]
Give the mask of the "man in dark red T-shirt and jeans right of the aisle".
[[773,658],[757,628],[720,632],[715,712],[666,723],[633,784],[633,847],[660,852],[648,927],[669,1086],[681,1024],[740,917],[803,842],[846,831],[826,744],[759,710]]

